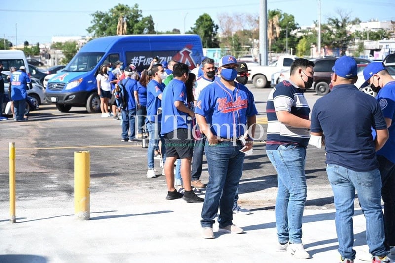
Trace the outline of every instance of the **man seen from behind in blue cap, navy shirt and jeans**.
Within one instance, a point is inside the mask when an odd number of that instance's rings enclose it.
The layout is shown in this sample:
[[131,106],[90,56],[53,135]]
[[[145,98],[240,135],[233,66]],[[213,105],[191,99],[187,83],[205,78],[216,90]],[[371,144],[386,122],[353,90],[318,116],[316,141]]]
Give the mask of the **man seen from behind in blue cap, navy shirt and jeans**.
[[[340,57],[332,70],[333,89],[313,107],[311,135],[325,135],[326,172],[335,199],[341,262],[352,263],[356,258],[352,219],[356,191],[366,218],[372,262],[390,262],[384,246],[381,178],[376,159],[376,151],[388,139],[387,125],[375,98],[354,86],[358,78],[356,61]],[[372,127],[377,133],[375,139]]]

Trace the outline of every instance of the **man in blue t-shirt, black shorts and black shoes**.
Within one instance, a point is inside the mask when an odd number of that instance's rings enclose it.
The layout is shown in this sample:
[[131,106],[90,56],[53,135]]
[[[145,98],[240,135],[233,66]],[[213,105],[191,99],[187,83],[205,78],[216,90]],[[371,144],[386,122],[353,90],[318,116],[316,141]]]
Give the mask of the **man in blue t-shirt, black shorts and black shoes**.
[[[161,134],[166,143],[166,162],[164,171],[167,182],[167,200],[183,198],[188,203],[203,202],[191,187],[191,160],[193,140],[191,120],[194,112],[188,108],[185,82],[189,68],[184,63],[173,66],[173,80],[163,91],[163,110]],[[174,163],[181,159],[181,177],[184,183],[184,196],[174,187]]]

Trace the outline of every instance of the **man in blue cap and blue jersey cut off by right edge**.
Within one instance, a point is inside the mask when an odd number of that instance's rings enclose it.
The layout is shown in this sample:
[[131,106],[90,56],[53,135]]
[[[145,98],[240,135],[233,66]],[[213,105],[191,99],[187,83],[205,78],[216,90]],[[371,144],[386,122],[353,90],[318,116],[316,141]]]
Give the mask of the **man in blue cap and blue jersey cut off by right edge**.
[[[383,63],[370,63],[363,70],[365,83],[377,92],[377,101],[386,121],[390,138],[377,151],[377,161],[381,174],[381,196],[384,201],[384,231],[387,251],[395,254],[395,79],[388,73]],[[373,134],[375,136],[375,134]]]

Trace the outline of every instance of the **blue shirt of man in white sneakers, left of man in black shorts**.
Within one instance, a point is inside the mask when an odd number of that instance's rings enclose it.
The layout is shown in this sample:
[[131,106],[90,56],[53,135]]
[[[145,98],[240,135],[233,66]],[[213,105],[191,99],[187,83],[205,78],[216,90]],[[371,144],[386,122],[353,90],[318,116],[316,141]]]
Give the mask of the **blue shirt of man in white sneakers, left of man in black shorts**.
[[147,85],[147,121],[162,121],[162,115],[157,116],[158,108],[162,107],[162,101],[158,98],[163,93],[165,85],[152,79]]

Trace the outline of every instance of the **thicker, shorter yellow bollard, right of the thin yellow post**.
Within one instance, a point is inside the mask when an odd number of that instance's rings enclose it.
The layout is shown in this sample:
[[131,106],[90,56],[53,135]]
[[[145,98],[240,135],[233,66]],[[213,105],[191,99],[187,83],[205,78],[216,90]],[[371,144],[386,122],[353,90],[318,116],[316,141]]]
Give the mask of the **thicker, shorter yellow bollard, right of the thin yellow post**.
[[77,218],[90,219],[89,151],[74,152],[74,212]]

